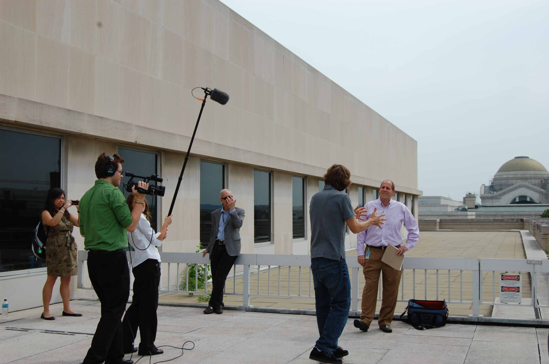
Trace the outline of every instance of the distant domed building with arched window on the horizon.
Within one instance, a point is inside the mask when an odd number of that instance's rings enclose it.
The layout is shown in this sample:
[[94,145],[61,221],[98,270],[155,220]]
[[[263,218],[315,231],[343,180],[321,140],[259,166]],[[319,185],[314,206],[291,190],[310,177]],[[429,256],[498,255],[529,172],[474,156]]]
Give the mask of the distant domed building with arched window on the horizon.
[[480,187],[480,200],[482,206],[549,204],[549,172],[537,160],[515,157]]

